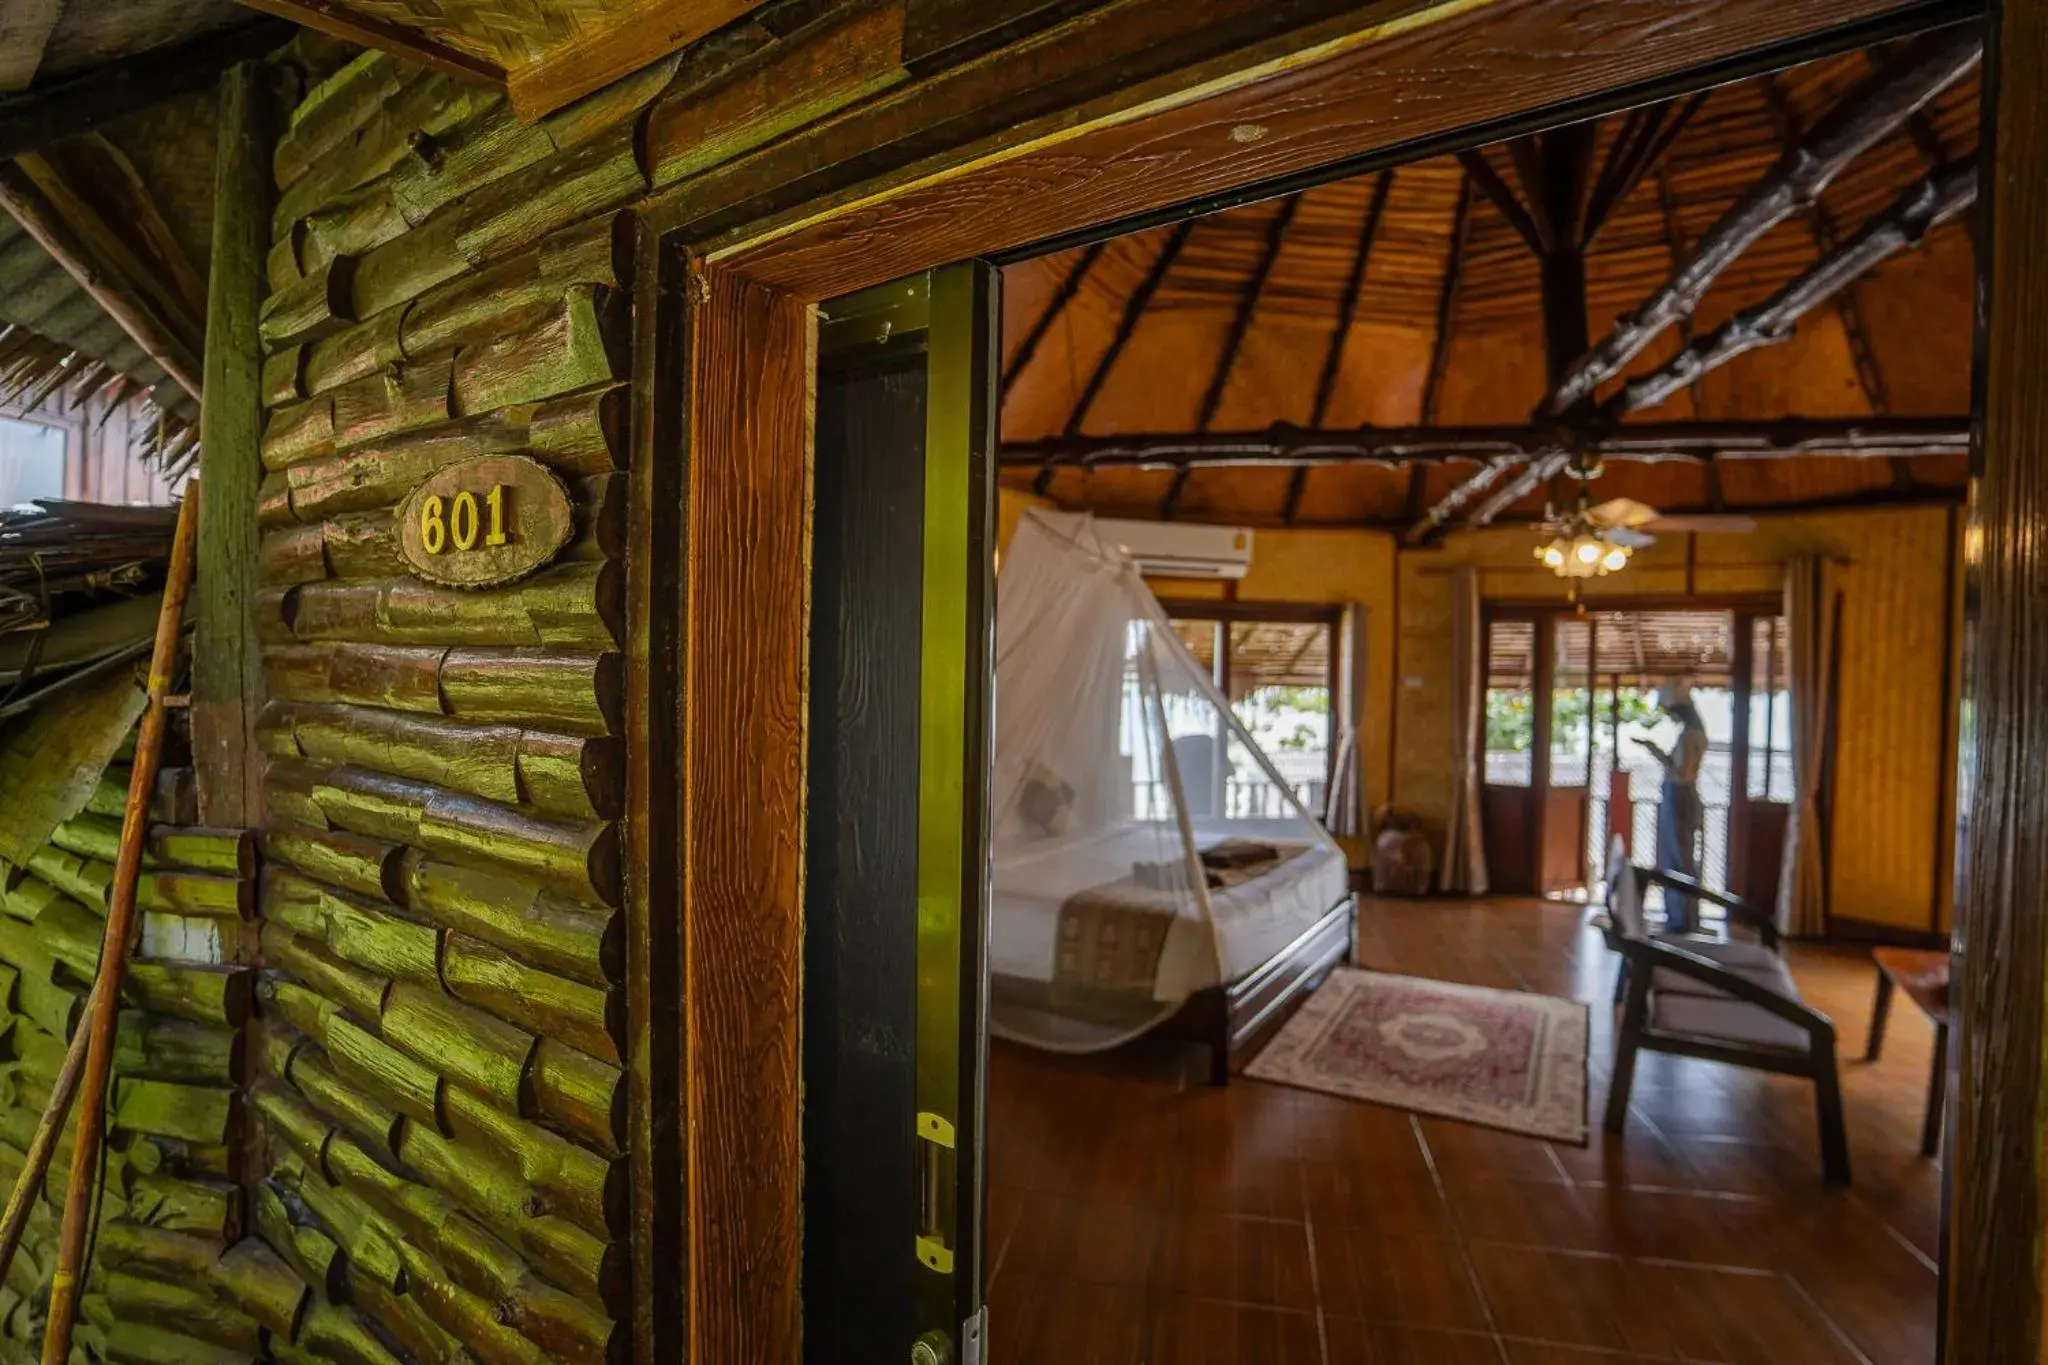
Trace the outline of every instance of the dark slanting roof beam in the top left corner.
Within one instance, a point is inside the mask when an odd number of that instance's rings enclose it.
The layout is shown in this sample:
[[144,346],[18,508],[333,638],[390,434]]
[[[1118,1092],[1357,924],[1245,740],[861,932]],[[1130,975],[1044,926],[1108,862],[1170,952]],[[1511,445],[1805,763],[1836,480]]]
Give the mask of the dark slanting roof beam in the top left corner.
[[[12,4],[8,6],[12,10]],[[184,43],[96,65],[78,76],[0,96],[0,160],[90,133],[115,119],[205,90],[236,61],[291,41],[293,25],[258,18]]]

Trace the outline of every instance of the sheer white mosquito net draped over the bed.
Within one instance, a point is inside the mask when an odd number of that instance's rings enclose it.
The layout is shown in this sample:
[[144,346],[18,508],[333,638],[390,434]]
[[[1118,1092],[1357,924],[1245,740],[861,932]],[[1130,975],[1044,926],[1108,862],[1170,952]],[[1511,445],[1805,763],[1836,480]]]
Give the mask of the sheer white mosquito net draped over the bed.
[[1137,1038],[1348,894],[1343,853],[1122,548],[1028,512],[995,614],[991,1027]]

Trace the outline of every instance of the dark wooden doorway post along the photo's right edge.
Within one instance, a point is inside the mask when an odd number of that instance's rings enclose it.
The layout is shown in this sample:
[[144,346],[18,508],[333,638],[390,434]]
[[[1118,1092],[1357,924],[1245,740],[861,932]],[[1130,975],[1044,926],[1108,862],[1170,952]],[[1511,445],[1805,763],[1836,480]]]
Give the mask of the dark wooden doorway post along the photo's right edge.
[[1946,1359],[2042,1351],[2042,1036],[2048,1029],[2048,25],[1991,6],[1978,205],[1978,444],[1966,532],[1964,729],[1950,1107]]

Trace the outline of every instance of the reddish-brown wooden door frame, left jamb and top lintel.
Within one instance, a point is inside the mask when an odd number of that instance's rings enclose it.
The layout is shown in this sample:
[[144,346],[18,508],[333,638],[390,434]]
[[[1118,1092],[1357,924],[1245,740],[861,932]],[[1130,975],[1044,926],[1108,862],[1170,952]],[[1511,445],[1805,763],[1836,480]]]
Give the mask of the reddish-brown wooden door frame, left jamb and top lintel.
[[[653,978],[668,970],[678,984],[680,1074],[647,1085],[655,1099],[664,1085],[680,1093],[680,1124],[655,1111],[653,1130],[680,1144],[684,1173],[680,1207],[659,1214],[674,1195],[649,1189],[657,1212],[639,1218],[635,1265],[653,1279],[637,1283],[680,1281],[676,1304],[647,1308],[649,1293],[635,1295],[643,1359],[662,1330],[680,1332],[692,1361],[795,1365],[801,1355],[815,305],[958,260],[1483,145],[1954,16],[1952,4],[1913,0],[1704,0],[1675,25],[1632,0],[1386,0],[1321,23],[1309,45],[1231,53],[741,229],[700,233],[690,182],[641,209],[657,256],[678,260],[684,276],[664,268],[659,287],[680,291],[688,313],[668,344],[674,368],[649,364],[635,401],[635,536],[680,565],[680,583],[657,565],[635,596],[635,614],[672,632],[670,659],[647,647],[635,655],[653,686],[674,667],[676,696],[645,714],[678,718],[682,772],[672,862],[662,862],[659,831],[639,845],[657,864],[647,878],[653,919],[664,907],[680,913],[676,941],[664,945],[657,925],[649,945],[674,954],[653,962]],[[657,289],[655,278],[645,287]],[[680,620],[649,620],[664,610]],[[659,823],[662,810],[649,819]],[[664,876],[676,900],[662,900]],[[664,1060],[657,1052],[655,1068]],[[680,1236],[668,1252],[662,1228]]]

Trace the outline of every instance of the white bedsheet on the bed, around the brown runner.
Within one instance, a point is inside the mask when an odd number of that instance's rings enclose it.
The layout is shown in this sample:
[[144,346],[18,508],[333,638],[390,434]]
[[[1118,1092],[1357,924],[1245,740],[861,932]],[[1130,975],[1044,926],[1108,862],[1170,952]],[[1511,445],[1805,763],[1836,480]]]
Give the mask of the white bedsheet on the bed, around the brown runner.
[[[1051,839],[999,857],[989,902],[989,970],[997,976],[1053,980],[1059,909],[1075,892],[1128,878],[1133,864],[1171,857],[1174,851],[1163,847],[1159,835],[1155,825],[1133,823],[1085,839]],[[1227,831],[1196,829],[1196,847],[1206,849],[1233,835],[1262,837],[1255,825],[1233,823]],[[1303,847],[1298,841],[1276,843]],[[1178,839],[1174,845],[1178,847]],[[1208,905],[1214,933],[1190,902],[1167,933],[1153,999],[1176,1003],[1245,976],[1346,894],[1350,870],[1343,851],[1329,843],[1307,845],[1264,876],[1212,888]]]

